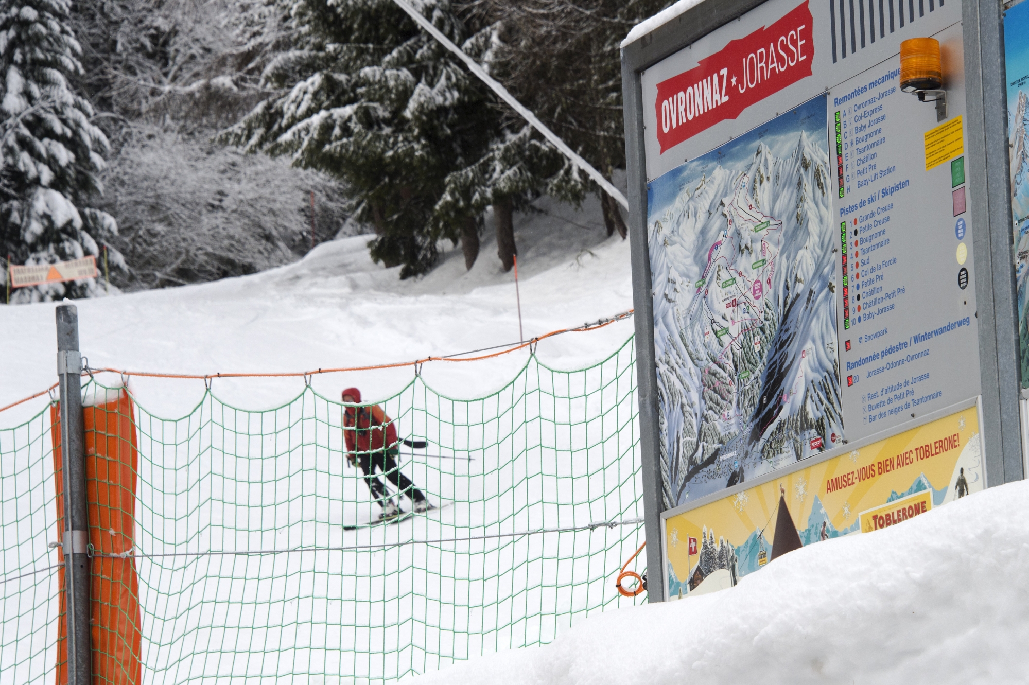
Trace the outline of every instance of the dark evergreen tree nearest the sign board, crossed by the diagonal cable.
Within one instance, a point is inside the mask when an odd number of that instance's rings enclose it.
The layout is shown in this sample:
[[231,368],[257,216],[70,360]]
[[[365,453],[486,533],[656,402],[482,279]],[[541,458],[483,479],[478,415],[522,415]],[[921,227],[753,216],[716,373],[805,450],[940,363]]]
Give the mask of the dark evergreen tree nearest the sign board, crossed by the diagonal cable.
[[[620,42],[633,26],[669,4],[668,0],[476,0],[469,7],[477,21],[494,29],[489,53],[493,76],[610,180],[626,157]],[[518,131],[520,121],[510,122],[508,129]],[[588,193],[596,193],[608,235],[627,235],[617,201],[528,128],[508,134],[478,166],[489,173],[471,174],[477,185],[464,190],[467,196],[497,197],[511,189],[516,197],[542,191],[578,204]]]

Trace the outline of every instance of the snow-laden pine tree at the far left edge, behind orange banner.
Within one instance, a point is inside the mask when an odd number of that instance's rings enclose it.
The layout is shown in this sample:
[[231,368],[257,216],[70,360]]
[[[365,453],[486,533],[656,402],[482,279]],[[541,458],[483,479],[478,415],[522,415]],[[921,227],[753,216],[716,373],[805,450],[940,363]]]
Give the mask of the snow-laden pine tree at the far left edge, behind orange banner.
[[[98,241],[117,231],[110,215],[86,207],[108,143],[90,103],[69,78],[82,71],[69,26],[69,0],[14,0],[0,12],[0,249],[16,264],[100,256]],[[109,250],[113,265],[121,256]],[[96,279],[16,291],[14,301],[83,297]]]

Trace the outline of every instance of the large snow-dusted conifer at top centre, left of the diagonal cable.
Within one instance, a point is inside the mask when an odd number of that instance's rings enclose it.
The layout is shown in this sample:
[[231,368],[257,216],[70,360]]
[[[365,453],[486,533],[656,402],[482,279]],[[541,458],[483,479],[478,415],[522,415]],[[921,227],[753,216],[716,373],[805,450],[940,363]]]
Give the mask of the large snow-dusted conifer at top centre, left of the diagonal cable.
[[[458,45],[483,44],[451,0],[419,7]],[[424,273],[439,239],[476,232],[474,214],[438,221],[433,210],[449,174],[495,137],[492,94],[392,0],[295,0],[291,17],[300,44],[265,71],[284,93],[222,140],[341,179],[356,218],[375,226],[371,256],[402,263],[401,278]]]

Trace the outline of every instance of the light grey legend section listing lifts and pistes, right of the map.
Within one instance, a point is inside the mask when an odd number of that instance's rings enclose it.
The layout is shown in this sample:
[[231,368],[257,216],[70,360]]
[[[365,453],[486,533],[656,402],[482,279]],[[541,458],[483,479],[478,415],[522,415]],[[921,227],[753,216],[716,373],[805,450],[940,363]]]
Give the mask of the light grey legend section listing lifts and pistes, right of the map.
[[[830,91],[840,116],[827,136],[831,141],[839,127],[843,146],[844,193],[833,197],[833,225],[848,440],[980,392],[961,103],[937,124],[934,109],[901,92],[887,65],[839,93],[857,88],[864,95],[842,102]],[[959,223],[954,214],[962,214]]]

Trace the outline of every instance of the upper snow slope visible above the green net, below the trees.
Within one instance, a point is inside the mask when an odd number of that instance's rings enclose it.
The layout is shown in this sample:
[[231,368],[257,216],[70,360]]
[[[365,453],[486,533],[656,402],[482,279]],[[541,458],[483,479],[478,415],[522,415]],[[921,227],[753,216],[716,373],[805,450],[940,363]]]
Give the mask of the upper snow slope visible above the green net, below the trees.
[[[599,204],[580,212],[543,199],[540,212],[519,215],[519,277],[527,339],[632,308],[629,243],[607,239]],[[492,228],[492,217],[487,217]],[[78,300],[82,354],[95,368],[212,373],[303,371],[384,364],[449,355],[519,339],[514,275],[504,273],[492,230],[466,272],[449,243],[439,266],[400,281],[398,269],[368,257],[367,237],[323,244],[303,260],[215,283]],[[56,382],[54,304],[0,307],[0,406]],[[613,352],[632,334],[631,320],[540,344],[559,368],[579,368]],[[506,384],[528,351],[474,363],[429,363],[423,377],[453,396],[473,397]],[[357,385],[368,399],[386,397],[414,370],[316,375],[315,390],[336,398]],[[182,416],[204,393],[200,381],[130,378],[141,403]],[[294,397],[301,378],[216,380],[226,402],[262,408]],[[0,413],[12,426],[38,411],[40,397]]]

